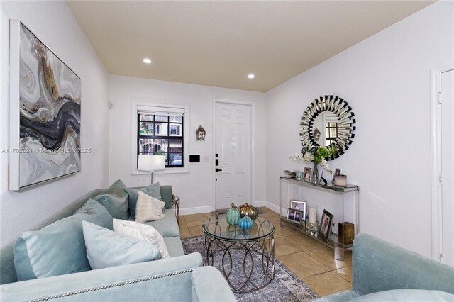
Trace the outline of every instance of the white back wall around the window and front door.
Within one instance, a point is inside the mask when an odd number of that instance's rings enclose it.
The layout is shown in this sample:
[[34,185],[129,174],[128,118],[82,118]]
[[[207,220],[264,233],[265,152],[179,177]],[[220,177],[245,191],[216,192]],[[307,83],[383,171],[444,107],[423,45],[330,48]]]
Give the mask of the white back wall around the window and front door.
[[[150,184],[150,175],[131,175],[131,101],[142,99],[159,104],[189,106],[189,154],[199,154],[209,162],[187,162],[189,173],[153,174],[153,182],[172,185],[181,198],[182,213],[212,211],[214,206],[214,99],[249,101],[255,104],[255,156],[253,157],[254,202],[265,201],[265,94],[212,86],[140,79],[111,75],[110,101],[110,181],[121,179],[127,186]],[[206,130],[204,142],[196,141],[196,129]]]

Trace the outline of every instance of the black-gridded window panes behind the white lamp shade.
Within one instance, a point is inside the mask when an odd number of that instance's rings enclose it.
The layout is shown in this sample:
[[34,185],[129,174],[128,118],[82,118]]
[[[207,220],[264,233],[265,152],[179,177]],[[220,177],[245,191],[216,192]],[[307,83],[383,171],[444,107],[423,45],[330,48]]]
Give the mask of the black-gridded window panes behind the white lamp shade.
[[137,158],[165,155],[165,167],[184,167],[184,108],[137,107]]

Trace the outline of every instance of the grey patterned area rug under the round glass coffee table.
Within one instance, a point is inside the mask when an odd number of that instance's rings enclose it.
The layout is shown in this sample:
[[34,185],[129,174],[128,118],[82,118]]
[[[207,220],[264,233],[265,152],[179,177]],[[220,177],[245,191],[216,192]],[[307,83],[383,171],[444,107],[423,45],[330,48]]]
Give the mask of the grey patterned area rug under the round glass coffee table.
[[[187,254],[192,252],[203,253],[203,236],[187,237],[182,239],[184,250]],[[219,258],[221,253],[219,255]],[[222,272],[221,259],[216,261],[217,269]],[[219,265],[217,265],[219,264]],[[235,293],[238,301],[279,301],[279,302],[298,302],[311,301],[318,298],[317,294],[309,286],[298,279],[282,262],[275,260],[275,279],[263,289],[250,293]]]

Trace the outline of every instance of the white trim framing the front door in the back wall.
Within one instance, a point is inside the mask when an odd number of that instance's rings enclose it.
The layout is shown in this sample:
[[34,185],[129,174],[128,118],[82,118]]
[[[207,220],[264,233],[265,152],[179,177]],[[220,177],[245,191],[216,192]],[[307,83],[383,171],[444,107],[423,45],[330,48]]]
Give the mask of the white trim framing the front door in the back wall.
[[[249,196],[250,196],[250,204],[255,206],[254,201],[255,201],[255,194],[254,194],[254,188],[255,188],[255,160],[253,155],[255,154],[255,104],[254,102],[251,101],[238,101],[238,100],[233,100],[233,99],[220,99],[220,98],[214,98],[213,99],[213,165],[211,169],[211,174],[213,175],[212,179],[212,185],[213,185],[213,195],[211,196],[211,199],[213,200],[212,206],[213,206],[213,211],[216,210],[216,172],[214,171],[216,169],[216,104],[217,103],[222,103],[222,104],[235,104],[235,105],[243,105],[243,106],[250,106],[250,188],[249,188]],[[239,205],[237,205],[239,206]]]

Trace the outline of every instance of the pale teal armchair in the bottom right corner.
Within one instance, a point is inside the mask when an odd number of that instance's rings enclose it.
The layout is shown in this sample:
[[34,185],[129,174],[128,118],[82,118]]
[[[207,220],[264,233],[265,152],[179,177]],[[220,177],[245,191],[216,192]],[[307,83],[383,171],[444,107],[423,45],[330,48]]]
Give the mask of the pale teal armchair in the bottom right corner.
[[315,301],[454,301],[454,269],[367,233],[353,242],[353,291]]

